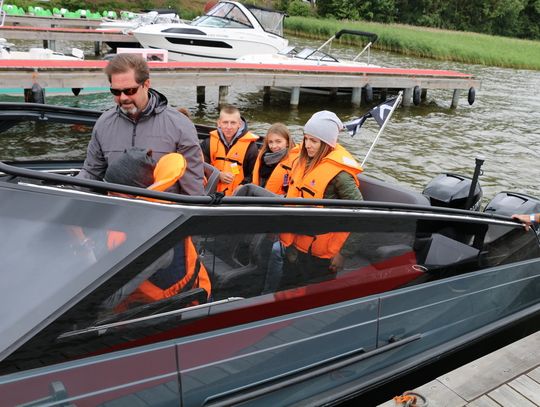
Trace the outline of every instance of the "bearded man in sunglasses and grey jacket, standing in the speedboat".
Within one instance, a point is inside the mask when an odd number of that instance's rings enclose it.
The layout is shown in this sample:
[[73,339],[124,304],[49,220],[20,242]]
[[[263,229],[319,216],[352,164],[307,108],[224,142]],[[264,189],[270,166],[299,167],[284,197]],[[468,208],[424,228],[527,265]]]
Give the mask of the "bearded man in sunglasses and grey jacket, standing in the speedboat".
[[154,160],[178,152],[187,170],[170,192],[204,195],[202,151],[193,123],[167,98],[150,89],[148,64],[139,55],[118,54],[105,68],[117,106],[97,120],[79,177],[102,180],[109,163],[131,147],[152,150]]

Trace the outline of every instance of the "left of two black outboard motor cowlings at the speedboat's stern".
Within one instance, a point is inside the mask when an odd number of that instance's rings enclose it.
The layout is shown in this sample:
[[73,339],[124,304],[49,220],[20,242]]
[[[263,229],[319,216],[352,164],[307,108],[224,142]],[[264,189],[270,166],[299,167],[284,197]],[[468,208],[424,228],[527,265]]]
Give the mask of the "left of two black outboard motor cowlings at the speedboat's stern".
[[471,183],[472,179],[463,175],[440,174],[428,183],[422,193],[432,206],[477,211],[484,193],[480,183],[476,183],[472,202],[467,205]]

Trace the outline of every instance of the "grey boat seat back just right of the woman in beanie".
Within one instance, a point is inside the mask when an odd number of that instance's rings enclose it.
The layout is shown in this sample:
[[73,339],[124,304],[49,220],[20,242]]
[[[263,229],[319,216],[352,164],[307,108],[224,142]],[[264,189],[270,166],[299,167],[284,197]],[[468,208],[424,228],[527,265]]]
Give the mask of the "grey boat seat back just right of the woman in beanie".
[[428,205],[429,200],[420,192],[401,185],[390,184],[364,174],[358,176],[360,192],[365,201],[395,202],[412,205]]

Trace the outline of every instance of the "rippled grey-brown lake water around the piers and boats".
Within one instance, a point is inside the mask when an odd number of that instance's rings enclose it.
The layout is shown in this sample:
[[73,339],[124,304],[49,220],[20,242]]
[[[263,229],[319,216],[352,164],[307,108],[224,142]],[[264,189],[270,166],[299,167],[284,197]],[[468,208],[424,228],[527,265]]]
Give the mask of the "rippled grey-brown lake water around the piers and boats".
[[[290,42],[305,46],[322,43],[294,37],[290,37]],[[59,50],[66,53],[71,46],[84,49],[88,55],[93,52],[91,44],[58,43]],[[352,57],[357,50],[333,46],[331,52]],[[540,150],[540,72],[410,58],[377,51],[371,53],[371,62],[381,66],[473,73],[482,80],[482,87],[477,89],[472,106],[467,103],[466,92],[462,92],[458,108],[450,109],[452,91],[441,90],[428,92],[427,100],[421,106],[397,109],[365,165],[367,174],[422,190],[441,172],[472,176],[474,159],[482,155],[486,161],[480,182],[485,201],[503,190],[540,197],[540,168],[536,154]],[[206,103],[202,105],[196,103],[195,88],[159,90],[172,105],[187,107],[195,122],[215,123],[217,88],[207,89]],[[0,100],[22,101],[22,97],[2,96]],[[302,125],[318,110],[332,110],[347,121],[370,108],[353,107],[348,97],[330,100],[302,94],[297,109],[291,109],[288,101],[288,94],[273,92],[270,103],[265,104],[262,91],[250,84],[229,92],[229,102],[242,110],[256,134],[264,135],[271,123],[281,121],[290,127],[297,141],[301,139]],[[106,109],[113,101],[109,94],[94,94],[47,96],[47,103]],[[340,142],[362,161],[377,131],[378,125],[368,120],[354,138],[343,133]],[[0,158],[83,158],[87,141],[75,130],[73,134],[55,139],[43,138],[39,129],[29,130],[16,139],[0,135]]]

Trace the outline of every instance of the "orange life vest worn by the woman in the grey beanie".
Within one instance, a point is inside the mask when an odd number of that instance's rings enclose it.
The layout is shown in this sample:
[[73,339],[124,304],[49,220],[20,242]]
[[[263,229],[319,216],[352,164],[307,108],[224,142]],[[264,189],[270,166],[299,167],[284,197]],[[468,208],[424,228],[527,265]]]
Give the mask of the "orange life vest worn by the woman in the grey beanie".
[[[351,174],[356,185],[360,185],[357,175],[362,172],[362,167],[339,144],[323,158],[317,167],[303,176],[304,168],[305,163],[295,164],[287,198],[323,199],[326,187],[341,171]],[[348,237],[349,232],[331,232],[315,236],[282,233],[280,240],[286,247],[294,245],[303,253],[331,259],[339,253]]]

